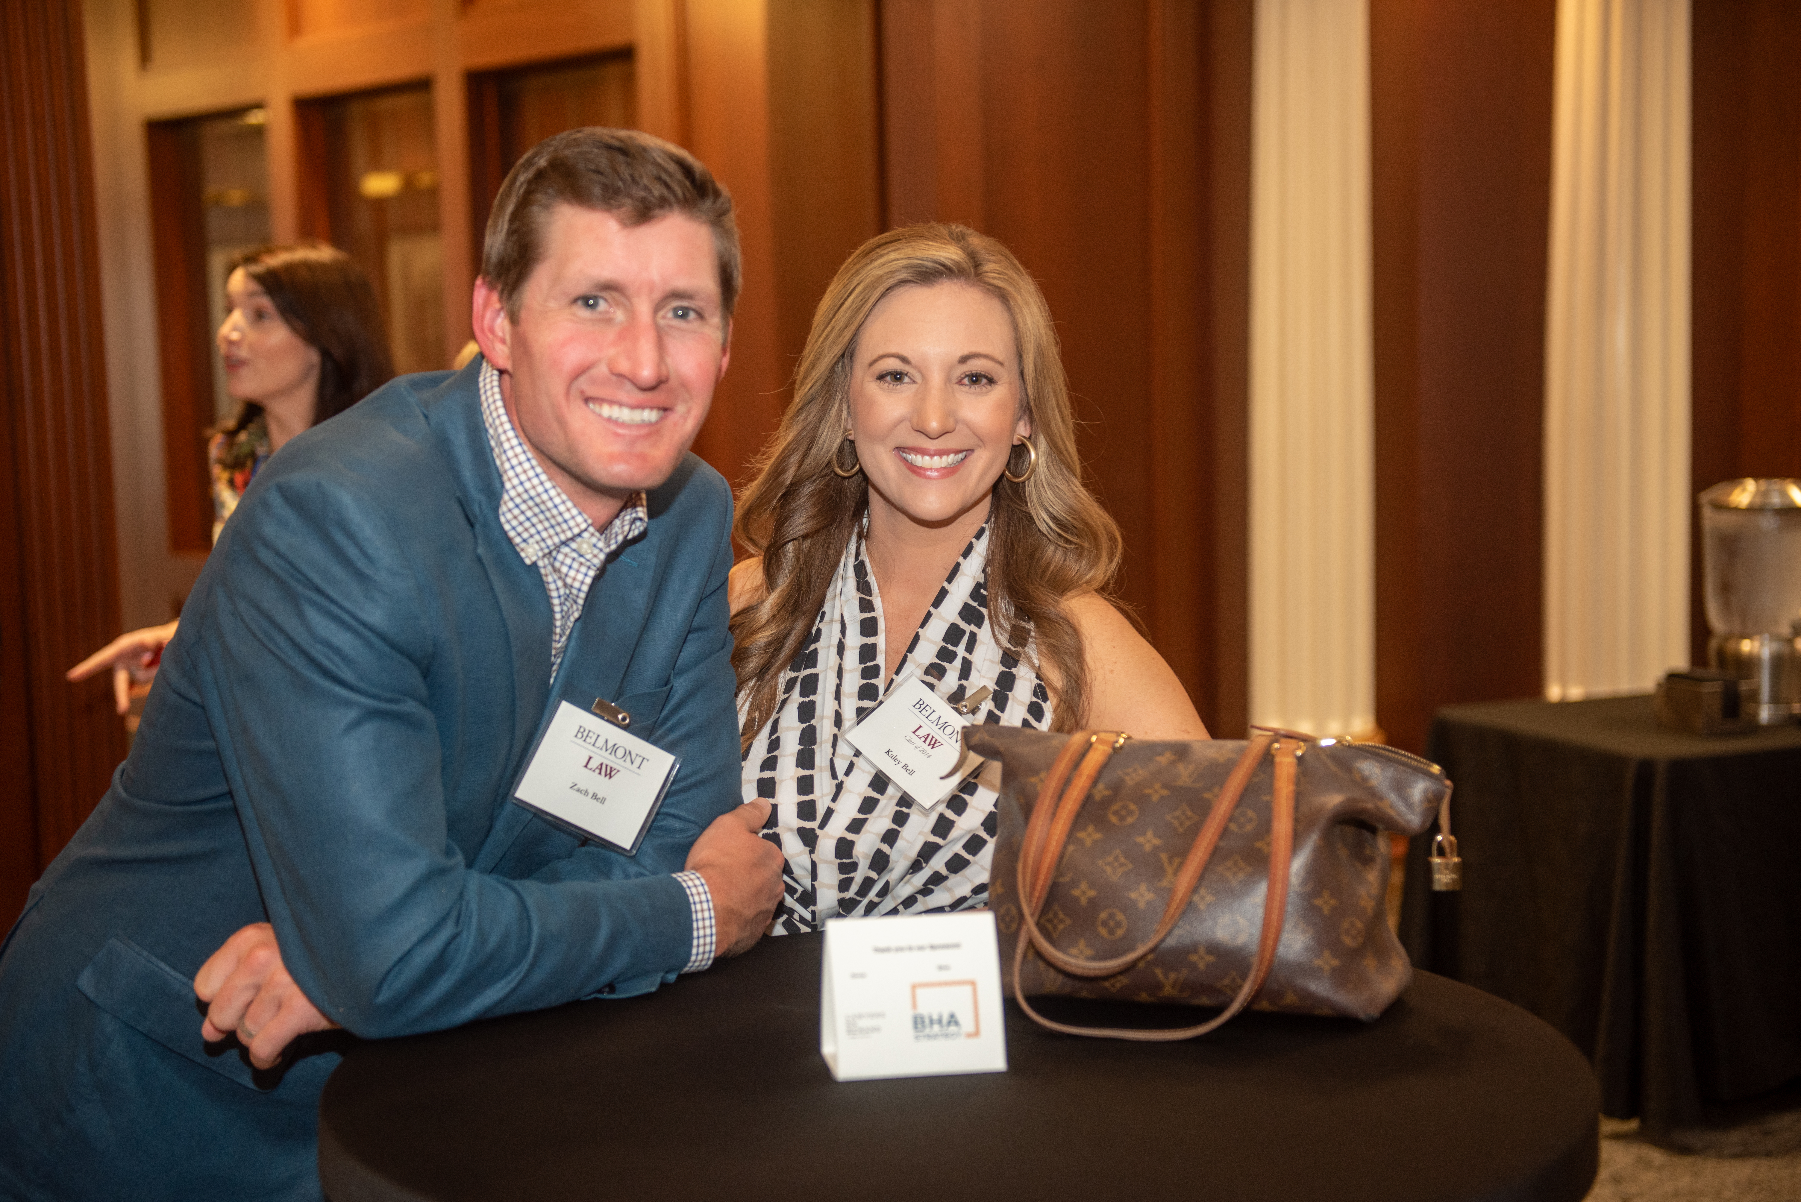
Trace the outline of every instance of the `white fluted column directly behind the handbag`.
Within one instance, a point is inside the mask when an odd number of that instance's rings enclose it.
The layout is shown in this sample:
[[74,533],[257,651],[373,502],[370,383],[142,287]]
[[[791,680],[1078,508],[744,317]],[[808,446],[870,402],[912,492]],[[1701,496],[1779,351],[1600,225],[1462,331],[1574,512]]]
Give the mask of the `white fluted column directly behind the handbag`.
[[1367,0],[1257,0],[1250,720],[1376,725]]

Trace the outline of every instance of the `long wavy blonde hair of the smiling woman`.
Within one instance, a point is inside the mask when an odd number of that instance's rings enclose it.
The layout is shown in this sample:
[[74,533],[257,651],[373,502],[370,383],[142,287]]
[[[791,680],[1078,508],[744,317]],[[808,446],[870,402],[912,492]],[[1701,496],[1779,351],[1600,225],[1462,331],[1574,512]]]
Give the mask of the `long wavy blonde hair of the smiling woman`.
[[[738,498],[735,534],[764,558],[764,596],[731,619],[731,666],[747,702],[742,745],[769,722],[782,671],[812,633],[845,543],[868,506],[859,471],[832,471],[850,425],[857,335],[895,288],[973,284],[1005,306],[1019,351],[1021,405],[1032,419],[1037,468],[994,482],[989,511],[989,621],[996,641],[1034,657],[1052,691],[1057,731],[1081,725],[1088,668],[1063,610],[1068,597],[1108,594],[1122,543],[1113,516],[1082,484],[1075,419],[1045,293],[1007,247],[965,225],[910,225],[863,243],[832,277],[794,371],[794,401]],[[1009,471],[1023,475],[1016,448]],[[1046,675],[1043,669],[1052,671]]]

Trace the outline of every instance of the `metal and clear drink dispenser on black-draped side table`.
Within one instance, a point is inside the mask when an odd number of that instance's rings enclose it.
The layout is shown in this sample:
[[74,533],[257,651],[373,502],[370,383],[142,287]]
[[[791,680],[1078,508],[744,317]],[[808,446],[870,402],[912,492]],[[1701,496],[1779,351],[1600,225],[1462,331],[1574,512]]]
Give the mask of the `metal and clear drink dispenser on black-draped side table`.
[[1801,480],[1725,480],[1697,500],[1707,662],[1758,682],[1763,725],[1801,718]]

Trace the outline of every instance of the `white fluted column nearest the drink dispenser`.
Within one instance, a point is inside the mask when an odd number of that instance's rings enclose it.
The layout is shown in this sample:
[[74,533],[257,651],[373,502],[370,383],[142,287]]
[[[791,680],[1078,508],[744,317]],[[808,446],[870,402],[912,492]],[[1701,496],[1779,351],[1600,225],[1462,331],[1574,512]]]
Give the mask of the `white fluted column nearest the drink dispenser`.
[[1545,696],[1688,664],[1689,4],[1561,0],[1545,327]]

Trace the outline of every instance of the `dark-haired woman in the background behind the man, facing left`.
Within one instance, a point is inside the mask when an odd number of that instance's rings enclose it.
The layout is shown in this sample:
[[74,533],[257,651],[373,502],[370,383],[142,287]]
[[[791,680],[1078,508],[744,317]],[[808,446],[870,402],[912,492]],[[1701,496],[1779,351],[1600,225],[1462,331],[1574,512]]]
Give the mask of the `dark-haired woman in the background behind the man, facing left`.
[[[387,383],[393,360],[382,309],[357,261],[324,243],[259,247],[231,265],[218,331],[225,389],[238,416],[207,444],[213,542],[250,479],[301,430],[333,417]],[[68,669],[85,680],[113,669],[119,713],[149,687],[176,623],[119,635]]]

